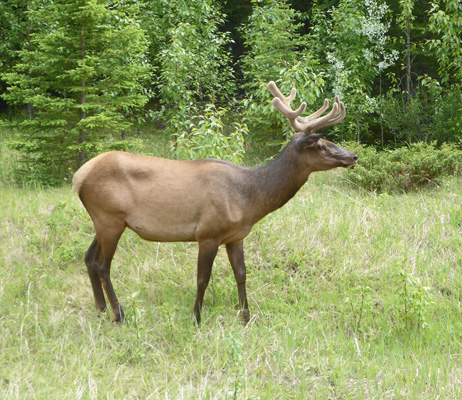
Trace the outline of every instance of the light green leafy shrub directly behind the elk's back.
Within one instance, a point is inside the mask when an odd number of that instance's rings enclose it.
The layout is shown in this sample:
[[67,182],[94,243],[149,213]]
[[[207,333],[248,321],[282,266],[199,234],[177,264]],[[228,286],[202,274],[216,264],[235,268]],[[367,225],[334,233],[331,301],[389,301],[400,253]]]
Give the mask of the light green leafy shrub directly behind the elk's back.
[[186,160],[217,158],[240,164],[248,129],[245,123],[234,123],[234,131],[226,135],[223,119],[227,112],[209,104],[203,115],[193,118],[196,122],[191,124],[189,131],[177,135],[172,149],[174,156]]

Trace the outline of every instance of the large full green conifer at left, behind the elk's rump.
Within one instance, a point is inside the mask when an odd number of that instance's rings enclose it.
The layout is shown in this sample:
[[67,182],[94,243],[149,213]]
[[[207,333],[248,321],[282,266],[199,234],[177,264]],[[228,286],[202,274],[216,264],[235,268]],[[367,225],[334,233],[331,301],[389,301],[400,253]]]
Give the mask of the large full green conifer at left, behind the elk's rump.
[[126,129],[126,115],[146,103],[147,42],[136,8],[125,2],[40,0],[28,14],[31,47],[4,74],[3,98],[33,105],[15,147],[28,169],[55,183],[99,151],[102,138]]

